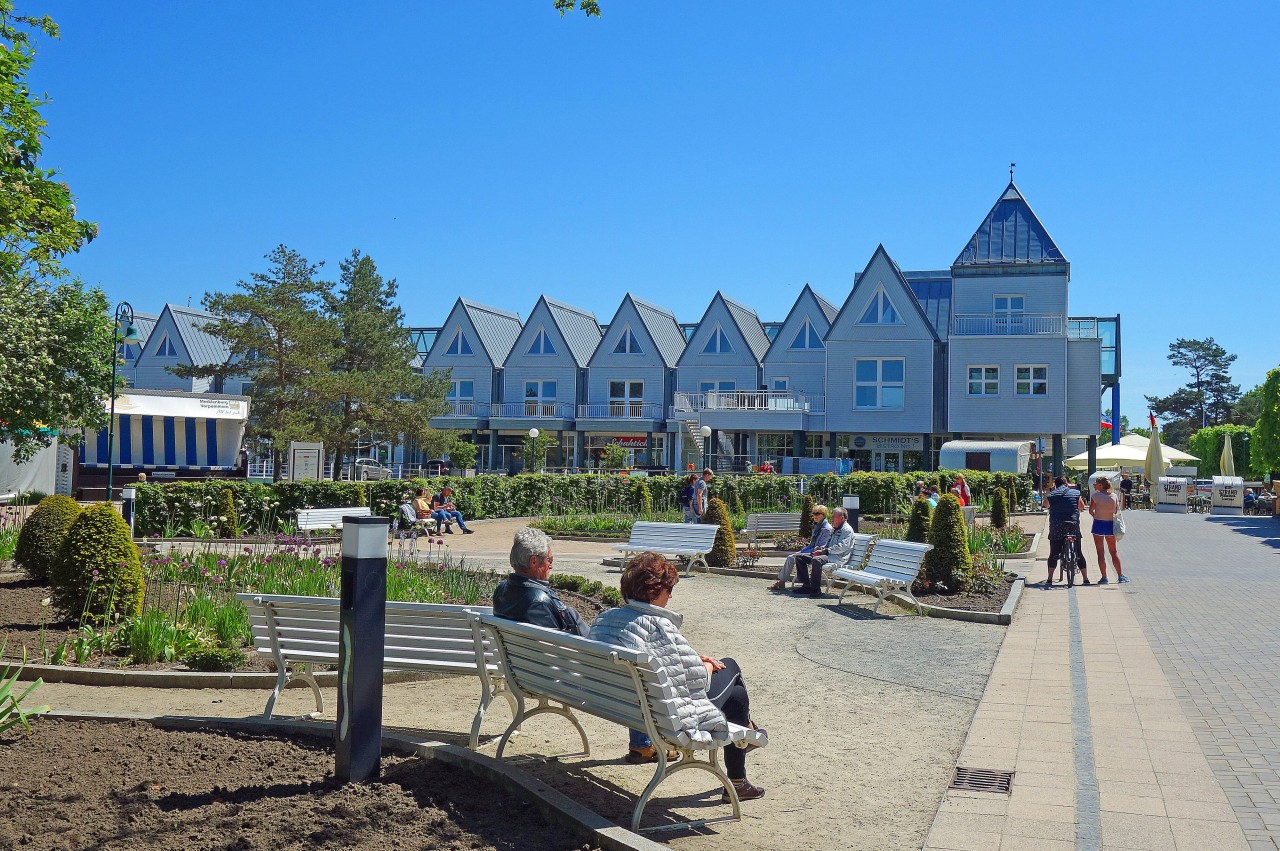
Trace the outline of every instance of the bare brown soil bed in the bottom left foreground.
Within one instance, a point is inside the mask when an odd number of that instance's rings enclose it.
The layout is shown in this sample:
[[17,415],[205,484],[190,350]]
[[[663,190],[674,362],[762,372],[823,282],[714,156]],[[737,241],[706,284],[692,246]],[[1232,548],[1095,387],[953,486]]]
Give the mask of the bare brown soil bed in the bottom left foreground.
[[380,781],[339,786],[321,740],[65,720],[6,736],[5,850],[590,847],[532,804],[431,759],[384,755]]

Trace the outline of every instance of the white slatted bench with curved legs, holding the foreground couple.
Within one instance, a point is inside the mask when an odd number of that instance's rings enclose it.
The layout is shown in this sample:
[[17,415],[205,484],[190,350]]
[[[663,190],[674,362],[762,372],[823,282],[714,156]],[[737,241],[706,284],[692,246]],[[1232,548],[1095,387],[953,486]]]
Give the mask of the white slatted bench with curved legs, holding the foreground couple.
[[[709,735],[703,741],[690,737],[684,732],[678,718],[685,701],[676,697],[667,672],[648,653],[492,616],[472,616],[471,623],[477,645],[492,642],[502,676],[516,697],[516,717],[498,742],[498,759],[502,759],[507,742],[521,724],[541,714],[568,719],[582,740],[582,755],[589,756],[591,747],[582,724],[573,715],[576,710],[628,729],[643,729],[657,746],[658,768],[636,801],[631,814],[632,831],[640,829],[640,816],[658,784],[676,772],[690,768],[713,774],[733,805],[731,818],[736,820],[742,816],[733,784],[719,767],[719,750],[735,745],[763,746],[768,744],[767,736],[731,723],[727,731]],[[536,701],[536,705],[530,708],[527,701]],[[669,768],[668,747],[681,755],[680,761]],[[695,758],[699,751],[707,754],[705,760]],[[730,816],[649,829],[696,827],[724,820],[730,820]]]

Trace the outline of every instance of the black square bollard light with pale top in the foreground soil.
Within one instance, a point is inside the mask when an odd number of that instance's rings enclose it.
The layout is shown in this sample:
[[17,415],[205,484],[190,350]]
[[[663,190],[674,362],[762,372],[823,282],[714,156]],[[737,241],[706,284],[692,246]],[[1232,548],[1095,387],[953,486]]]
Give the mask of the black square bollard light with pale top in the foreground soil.
[[342,518],[337,768],[342,783],[378,779],[383,755],[387,517]]

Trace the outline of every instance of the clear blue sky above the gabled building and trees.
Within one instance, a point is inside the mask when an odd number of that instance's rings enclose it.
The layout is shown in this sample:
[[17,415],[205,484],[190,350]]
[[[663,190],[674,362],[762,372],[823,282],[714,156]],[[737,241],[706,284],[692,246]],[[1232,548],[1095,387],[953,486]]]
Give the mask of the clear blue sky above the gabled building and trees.
[[23,0],[63,27],[46,164],[101,225],[73,270],[156,311],[358,247],[413,325],[717,289],[780,320],[881,242],[947,267],[1012,160],[1071,312],[1123,314],[1134,424],[1175,337],[1245,389],[1280,363],[1275,3],[602,4]]

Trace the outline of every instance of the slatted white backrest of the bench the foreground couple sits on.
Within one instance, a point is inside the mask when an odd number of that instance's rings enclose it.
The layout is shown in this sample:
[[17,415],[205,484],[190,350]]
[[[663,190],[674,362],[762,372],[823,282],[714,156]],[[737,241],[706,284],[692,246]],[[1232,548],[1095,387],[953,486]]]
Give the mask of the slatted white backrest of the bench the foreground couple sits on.
[[[497,646],[502,673],[512,690],[644,729],[643,690],[658,731],[672,738],[680,733],[677,713],[682,701],[667,672],[648,653],[492,616],[475,616],[472,623]],[[632,669],[640,677],[640,688]]]

